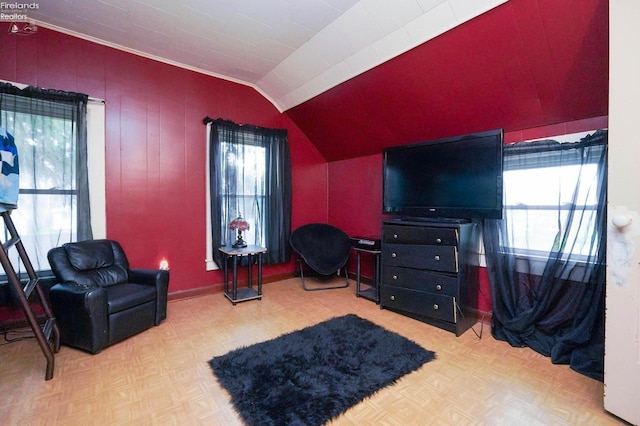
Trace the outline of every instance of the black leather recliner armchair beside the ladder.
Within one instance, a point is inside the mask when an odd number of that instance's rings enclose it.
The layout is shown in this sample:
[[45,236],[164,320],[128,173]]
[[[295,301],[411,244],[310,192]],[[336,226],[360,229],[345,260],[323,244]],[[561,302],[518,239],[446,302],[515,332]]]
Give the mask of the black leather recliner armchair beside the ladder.
[[65,345],[97,354],[167,317],[169,272],[130,269],[116,241],[67,243],[47,258],[58,281],[49,299]]

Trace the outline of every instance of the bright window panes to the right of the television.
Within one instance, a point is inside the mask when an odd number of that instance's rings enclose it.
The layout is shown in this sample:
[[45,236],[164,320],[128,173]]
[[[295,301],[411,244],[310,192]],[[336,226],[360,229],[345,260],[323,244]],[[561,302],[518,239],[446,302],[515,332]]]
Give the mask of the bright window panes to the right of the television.
[[[578,140],[581,136],[569,138]],[[563,240],[571,241],[573,259],[585,260],[595,248],[602,178],[598,166],[601,156],[595,151],[603,148],[592,148],[594,152],[587,156],[581,149],[572,149],[571,143],[543,144],[514,155],[505,150],[504,211],[511,248],[515,254],[547,258],[560,249]],[[570,227],[569,215],[579,215],[582,225]]]

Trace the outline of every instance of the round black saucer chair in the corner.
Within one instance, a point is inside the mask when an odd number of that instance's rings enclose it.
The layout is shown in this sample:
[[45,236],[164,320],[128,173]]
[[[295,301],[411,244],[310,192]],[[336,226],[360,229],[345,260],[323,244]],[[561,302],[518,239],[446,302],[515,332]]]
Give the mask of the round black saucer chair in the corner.
[[[351,239],[344,231],[325,223],[308,223],[291,233],[289,243],[297,254],[300,279],[305,290],[330,290],[349,286],[346,264],[351,254]],[[305,269],[315,272],[320,281],[343,270],[345,283],[307,287]]]

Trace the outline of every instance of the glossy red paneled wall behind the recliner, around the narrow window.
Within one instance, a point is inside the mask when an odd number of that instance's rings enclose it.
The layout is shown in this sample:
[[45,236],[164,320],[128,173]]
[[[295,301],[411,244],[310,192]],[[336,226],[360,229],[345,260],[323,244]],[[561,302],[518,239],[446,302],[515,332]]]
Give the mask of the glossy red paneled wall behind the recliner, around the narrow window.
[[[254,89],[39,28],[0,25],[0,79],[86,93],[106,105],[107,236],[133,266],[171,267],[171,293],[222,282],[205,271],[205,116],[286,128],[294,225],[327,220],[327,164]],[[293,263],[265,268],[265,275]]]

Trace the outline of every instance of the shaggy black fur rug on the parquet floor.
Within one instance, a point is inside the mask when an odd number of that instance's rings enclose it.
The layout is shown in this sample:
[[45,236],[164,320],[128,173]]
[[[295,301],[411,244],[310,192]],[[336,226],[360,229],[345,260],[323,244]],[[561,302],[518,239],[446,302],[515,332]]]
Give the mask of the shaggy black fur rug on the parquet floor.
[[209,361],[249,425],[321,425],[435,358],[356,315]]

